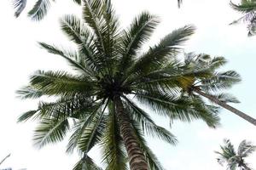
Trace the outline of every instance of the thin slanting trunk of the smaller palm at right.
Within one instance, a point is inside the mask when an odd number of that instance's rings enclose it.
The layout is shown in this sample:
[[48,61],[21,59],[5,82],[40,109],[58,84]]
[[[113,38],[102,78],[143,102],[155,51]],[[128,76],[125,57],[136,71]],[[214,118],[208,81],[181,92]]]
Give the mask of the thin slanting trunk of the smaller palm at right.
[[219,99],[217,99],[216,97],[214,97],[214,96],[212,96],[212,95],[210,95],[210,94],[206,94],[206,93],[202,92],[202,91],[201,91],[200,89],[198,89],[198,88],[193,88],[193,91],[194,91],[196,94],[200,94],[200,95],[204,96],[205,98],[210,99],[210,100],[211,100],[212,102],[214,102],[215,104],[224,107],[224,109],[235,113],[237,116],[240,116],[241,118],[243,118],[243,119],[246,120],[247,122],[250,122],[250,123],[252,123],[254,126],[256,126],[256,119],[254,119],[253,117],[248,116],[247,114],[245,114],[245,113],[242,112],[242,111],[238,111],[236,108],[232,107],[231,105],[228,105],[228,104],[226,104],[226,103],[220,101]]

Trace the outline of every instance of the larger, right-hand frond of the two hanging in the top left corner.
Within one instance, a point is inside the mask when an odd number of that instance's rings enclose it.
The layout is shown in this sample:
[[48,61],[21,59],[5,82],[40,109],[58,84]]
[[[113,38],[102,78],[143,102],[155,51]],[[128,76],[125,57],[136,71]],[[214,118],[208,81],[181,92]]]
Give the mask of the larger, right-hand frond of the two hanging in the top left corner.
[[28,16],[32,20],[42,20],[48,13],[50,6],[49,0],[38,0],[34,7],[28,12]]

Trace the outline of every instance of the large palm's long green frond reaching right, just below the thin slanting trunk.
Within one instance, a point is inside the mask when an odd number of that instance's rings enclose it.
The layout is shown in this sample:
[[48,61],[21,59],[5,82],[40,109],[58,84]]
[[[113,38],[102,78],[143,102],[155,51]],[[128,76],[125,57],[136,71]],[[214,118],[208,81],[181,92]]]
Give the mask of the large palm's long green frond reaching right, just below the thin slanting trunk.
[[163,92],[136,94],[136,98],[143,104],[152,108],[153,111],[162,116],[169,116],[171,120],[177,119],[191,122],[202,119],[209,127],[216,127],[219,117],[215,109],[210,109],[203,104],[202,100],[189,99],[185,96],[175,97]]

